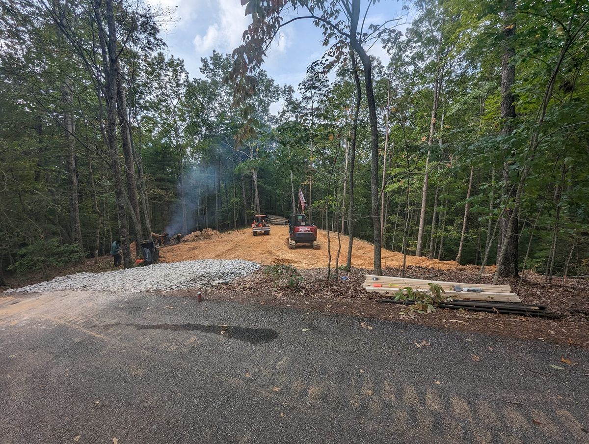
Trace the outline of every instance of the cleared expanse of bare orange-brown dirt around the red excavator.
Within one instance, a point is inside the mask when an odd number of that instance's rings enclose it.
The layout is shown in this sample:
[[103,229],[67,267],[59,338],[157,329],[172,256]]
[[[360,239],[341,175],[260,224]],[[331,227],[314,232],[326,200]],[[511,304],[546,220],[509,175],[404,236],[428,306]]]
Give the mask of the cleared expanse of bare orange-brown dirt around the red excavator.
[[[206,235],[203,233],[207,232]],[[273,225],[269,236],[253,236],[251,228],[243,228],[226,233],[206,229],[191,233],[182,239],[181,244],[166,246],[160,250],[160,261],[178,262],[195,259],[246,259],[260,264],[292,264],[298,268],[327,267],[327,232],[319,230],[321,249],[314,250],[307,245],[298,245],[289,250],[286,244],[287,225]],[[208,237],[207,237],[208,236]],[[185,240],[187,239],[188,240]],[[337,255],[337,233],[330,233],[332,267]],[[348,236],[340,235],[342,250],[339,264],[346,263]],[[354,239],[352,266],[372,268],[374,247],[369,242]],[[403,255],[398,252],[382,250],[382,268],[398,267],[403,264]],[[455,269],[454,261],[436,261],[428,258],[407,256],[407,265],[436,269]]]

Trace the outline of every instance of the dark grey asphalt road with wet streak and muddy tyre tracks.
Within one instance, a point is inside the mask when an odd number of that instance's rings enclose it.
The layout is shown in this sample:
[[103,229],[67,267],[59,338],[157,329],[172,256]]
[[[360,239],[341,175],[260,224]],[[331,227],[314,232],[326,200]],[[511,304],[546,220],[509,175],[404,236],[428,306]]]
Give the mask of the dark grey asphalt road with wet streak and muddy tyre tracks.
[[0,443],[587,443],[588,357],[213,299],[0,298]]

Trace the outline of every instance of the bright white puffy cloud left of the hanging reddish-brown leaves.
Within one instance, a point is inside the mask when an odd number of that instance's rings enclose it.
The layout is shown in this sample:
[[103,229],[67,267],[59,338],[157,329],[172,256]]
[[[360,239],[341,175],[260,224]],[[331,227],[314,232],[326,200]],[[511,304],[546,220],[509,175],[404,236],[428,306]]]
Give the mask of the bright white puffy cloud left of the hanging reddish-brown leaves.
[[194,49],[199,55],[209,54],[213,49],[232,51],[239,46],[243,31],[250,24],[251,16],[246,17],[239,0],[219,0],[217,5],[219,9],[213,13],[214,22],[204,34],[194,37]]

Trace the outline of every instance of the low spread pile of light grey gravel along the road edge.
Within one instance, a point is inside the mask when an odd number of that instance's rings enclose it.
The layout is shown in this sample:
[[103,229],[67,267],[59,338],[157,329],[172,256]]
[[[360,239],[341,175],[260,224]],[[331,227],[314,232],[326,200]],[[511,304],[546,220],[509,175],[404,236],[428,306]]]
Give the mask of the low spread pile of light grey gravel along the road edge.
[[259,264],[241,259],[204,259],[201,261],[154,264],[107,271],[104,273],[76,273],[49,282],[39,282],[5,292],[34,292],[57,290],[150,291],[180,290],[183,288],[211,288],[247,276]]

